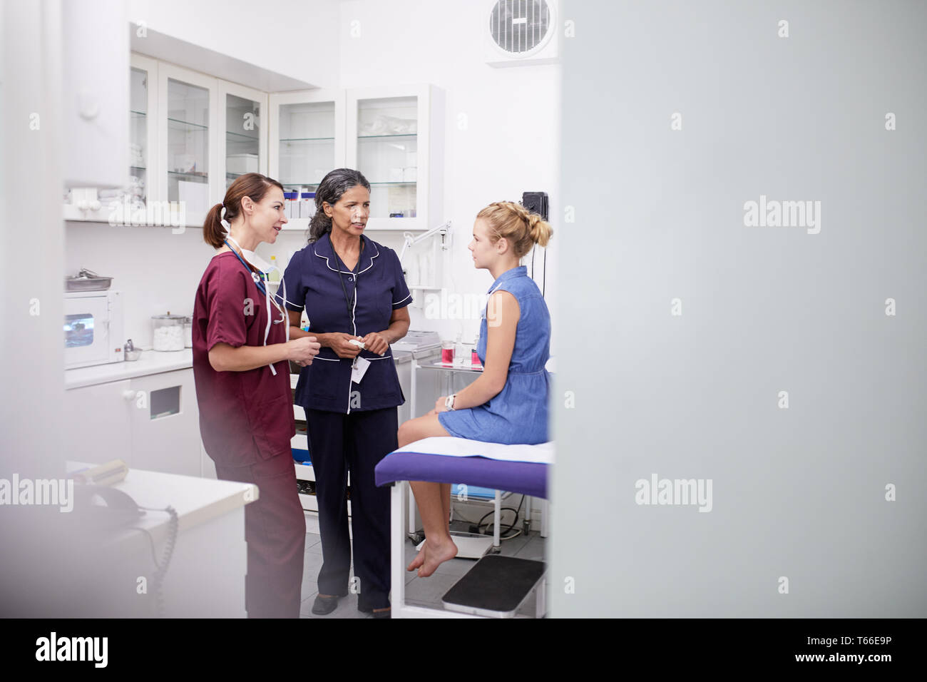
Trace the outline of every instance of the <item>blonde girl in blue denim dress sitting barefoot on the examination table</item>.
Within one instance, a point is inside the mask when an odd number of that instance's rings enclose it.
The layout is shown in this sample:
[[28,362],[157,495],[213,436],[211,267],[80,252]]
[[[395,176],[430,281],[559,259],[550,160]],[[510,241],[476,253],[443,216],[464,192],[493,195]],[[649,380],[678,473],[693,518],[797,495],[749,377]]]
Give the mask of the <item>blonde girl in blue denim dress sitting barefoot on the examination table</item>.
[[[452,396],[441,396],[423,417],[400,426],[399,447],[430,436],[457,436],[502,444],[548,441],[547,400],[551,378],[551,315],[521,259],[535,244],[547,246],[551,225],[511,201],[491,203],[476,214],[468,249],[474,267],[489,270],[486,311],[476,354],[483,373]],[[425,545],[409,564],[425,577],[457,555],[451,539],[451,483],[412,483],[422,516]]]

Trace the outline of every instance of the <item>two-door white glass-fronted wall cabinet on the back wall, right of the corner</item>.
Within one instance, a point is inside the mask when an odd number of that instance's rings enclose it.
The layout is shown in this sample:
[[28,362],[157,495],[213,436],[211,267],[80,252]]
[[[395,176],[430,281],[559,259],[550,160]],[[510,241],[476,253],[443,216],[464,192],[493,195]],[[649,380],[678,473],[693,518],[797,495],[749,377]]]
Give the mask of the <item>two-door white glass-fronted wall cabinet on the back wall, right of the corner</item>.
[[[444,94],[433,85],[270,96],[270,174],[314,192],[328,171],[371,184],[370,230],[424,231],[443,219]],[[434,225],[433,225],[434,224]],[[305,231],[309,218],[284,229]]]

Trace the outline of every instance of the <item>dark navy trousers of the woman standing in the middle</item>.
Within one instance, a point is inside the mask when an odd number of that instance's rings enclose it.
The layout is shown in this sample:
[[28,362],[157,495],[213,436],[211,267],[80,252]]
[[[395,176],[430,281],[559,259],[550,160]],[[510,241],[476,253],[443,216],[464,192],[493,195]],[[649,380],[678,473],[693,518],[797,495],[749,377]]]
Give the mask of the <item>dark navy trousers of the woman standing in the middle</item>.
[[351,545],[346,500],[350,472],[354,575],[358,608],[389,606],[389,488],[377,488],[374,467],[399,447],[396,407],[341,414],[306,409],[309,457],[322,536],[319,593],[346,596]]

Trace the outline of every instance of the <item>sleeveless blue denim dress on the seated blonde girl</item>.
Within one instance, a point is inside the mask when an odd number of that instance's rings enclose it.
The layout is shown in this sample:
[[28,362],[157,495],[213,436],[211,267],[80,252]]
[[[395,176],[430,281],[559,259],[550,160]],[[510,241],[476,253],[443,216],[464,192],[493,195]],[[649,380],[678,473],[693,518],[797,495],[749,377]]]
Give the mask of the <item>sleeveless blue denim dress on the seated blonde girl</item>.
[[[544,368],[551,356],[551,315],[538,285],[520,265],[502,273],[489,294],[510,292],[518,301],[521,315],[515,328],[515,345],[502,392],[489,403],[450,412],[438,412],[438,421],[448,433],[473,441],[502,444],[546,443],[547,401],[551,375]],[[479,323],[476,354],[486,365],[486,311]]]

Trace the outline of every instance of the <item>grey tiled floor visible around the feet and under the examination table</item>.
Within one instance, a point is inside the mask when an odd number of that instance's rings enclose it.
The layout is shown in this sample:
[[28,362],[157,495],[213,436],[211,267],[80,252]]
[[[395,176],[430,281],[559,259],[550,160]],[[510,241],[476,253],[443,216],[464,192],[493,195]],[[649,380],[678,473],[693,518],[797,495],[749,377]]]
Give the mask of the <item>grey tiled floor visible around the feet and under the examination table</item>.
[[[511,540],[502,541],[502,554],[508,557],[521,559],[544,560],[544,538],[536,532],[527,535],[518,535]],[[405,542],[405,563],[409,563],[415,556],[415,547],[411,540]],[[457,582],[464,573],[474,565],[474,560],[452,559],[445,561],[434,575],[420,578],[414,572],[408,573],[406,578],[406,603],[416,606],[425,606],[432,609],[443,609],[441,597],[451,585]],[[316,578],[322,567],[322,544],[319,535],[306,534],[306,559],[302,574],[302,607],[299,610],[302,618],[372,618],[369,613],[357,610],[357,595],[349,594],[341,598],[335,611],[328,615],[317,616],[311,612],[312,602],[319,593]],[[351,576],[353,576],[353,570]],[[535,595],[531,594],[518,611],[520,616],[533,617],[535,613]]]

